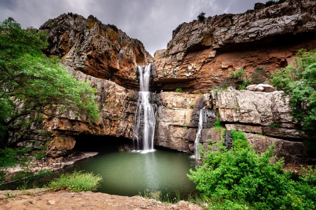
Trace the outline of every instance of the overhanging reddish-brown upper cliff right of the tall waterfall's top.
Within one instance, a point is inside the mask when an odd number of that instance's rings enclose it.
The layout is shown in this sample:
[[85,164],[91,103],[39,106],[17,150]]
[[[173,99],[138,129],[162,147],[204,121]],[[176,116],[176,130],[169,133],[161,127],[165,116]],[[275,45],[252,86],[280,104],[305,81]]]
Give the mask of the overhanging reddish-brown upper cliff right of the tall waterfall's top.
[[287,0],[242,14],[222,14],[179,25],[167,49],[155,52],[158,87],[207,92],[230,71],[256,66],[269,72],[316,48],[315,2]]

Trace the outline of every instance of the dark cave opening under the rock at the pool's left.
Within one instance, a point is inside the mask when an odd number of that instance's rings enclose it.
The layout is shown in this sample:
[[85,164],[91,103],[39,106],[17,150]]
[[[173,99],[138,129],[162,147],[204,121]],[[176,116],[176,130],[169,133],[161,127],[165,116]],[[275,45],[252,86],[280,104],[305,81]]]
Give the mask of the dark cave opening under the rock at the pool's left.
[[104,153],[133,149],[133,140],[127,138],[89,134],[81,134],[74,137],[76,144],[72,149],[73,151]]

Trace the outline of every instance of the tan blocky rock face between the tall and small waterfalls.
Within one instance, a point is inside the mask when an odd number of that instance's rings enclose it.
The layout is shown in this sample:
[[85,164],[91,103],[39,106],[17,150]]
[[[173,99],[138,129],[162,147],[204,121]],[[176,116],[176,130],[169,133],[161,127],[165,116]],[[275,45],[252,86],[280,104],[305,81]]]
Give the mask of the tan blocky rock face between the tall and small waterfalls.
[[[157,102],[156,144],[192,153],[200,109],[205,106],[203,95],[162,92]],[[214,111],[206,109],[205,114],[204,128],[214,127]]]

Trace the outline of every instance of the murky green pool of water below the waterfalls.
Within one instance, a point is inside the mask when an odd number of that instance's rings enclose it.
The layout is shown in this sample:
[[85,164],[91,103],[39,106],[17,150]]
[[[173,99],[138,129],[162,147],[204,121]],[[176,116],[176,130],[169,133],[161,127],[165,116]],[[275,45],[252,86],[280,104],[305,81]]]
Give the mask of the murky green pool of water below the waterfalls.
[[135,196],[148,189],[172,196],[179,191],[181,197],[186,197],[196,192],[195,184],[186,175],[194,168],[193,161],[188,154],[166,150],[145,154],[111,152],[78,161],[65,171],[79,168],[100,174],[103,182],[98,192]]

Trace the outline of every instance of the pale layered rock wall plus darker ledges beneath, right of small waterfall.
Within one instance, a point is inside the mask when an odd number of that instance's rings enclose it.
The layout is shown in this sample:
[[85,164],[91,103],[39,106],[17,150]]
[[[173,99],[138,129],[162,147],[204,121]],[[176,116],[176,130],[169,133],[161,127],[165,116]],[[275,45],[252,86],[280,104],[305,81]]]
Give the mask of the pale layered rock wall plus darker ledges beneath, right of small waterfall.
[[[286,163],[315,162],[313,154],[302,142],[308,140],[292,121],[289,97],[283,91],[254,92],[250,90],[211,91],[204,94],[209,108],[216,108],[227,132],[244,131],[248,143],[257,152],[264,152],[272,143],[278,158]],[[259,135],[258,135],[259,134]],[[218,137],[214,140],[218,142]]]

